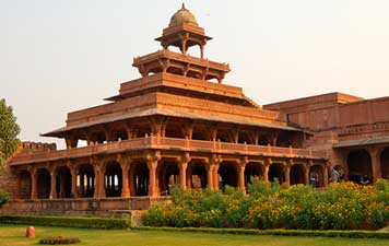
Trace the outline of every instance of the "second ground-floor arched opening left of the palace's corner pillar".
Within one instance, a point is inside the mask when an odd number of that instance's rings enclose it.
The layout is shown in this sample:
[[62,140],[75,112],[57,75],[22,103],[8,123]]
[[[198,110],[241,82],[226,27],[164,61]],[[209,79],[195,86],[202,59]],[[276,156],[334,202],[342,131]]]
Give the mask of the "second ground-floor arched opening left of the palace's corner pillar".
[[120,164],[116,162],[108,163],[104,180],[106,197],[121,197],[122,173]]

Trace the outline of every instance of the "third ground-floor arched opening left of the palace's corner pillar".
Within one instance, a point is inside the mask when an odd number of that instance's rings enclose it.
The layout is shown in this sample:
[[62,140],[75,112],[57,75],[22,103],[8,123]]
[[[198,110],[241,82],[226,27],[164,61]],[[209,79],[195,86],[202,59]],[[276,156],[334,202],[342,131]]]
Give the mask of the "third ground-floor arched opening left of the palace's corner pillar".
[[91,198],[95,191],[95,172],[90,164],[83,164],[79,167],[76,176],[78,197]]

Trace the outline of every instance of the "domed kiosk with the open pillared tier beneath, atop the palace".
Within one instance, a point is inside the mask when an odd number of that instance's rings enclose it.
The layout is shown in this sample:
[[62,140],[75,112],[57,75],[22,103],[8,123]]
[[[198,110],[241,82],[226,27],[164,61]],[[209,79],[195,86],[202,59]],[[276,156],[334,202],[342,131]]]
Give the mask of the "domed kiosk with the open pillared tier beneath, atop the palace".
[[[212,38],[205,36],[204,30],[198,25],[193,14],[182,4],[182,8],[172,16],[169,26],[164,28],[162,36],[155,38],[161,43],[163,50],[137,57],[132,66],[138,68],[143,78],[166,72],[203,81],[215,79],[222,83],[225,74],[231,71],[229,66],[204,59],[204,48],[210,39]],[[170,46],[179,48],[181,52],[168,50]],[[200,58],[187,55],[192,46],[199,46]]]

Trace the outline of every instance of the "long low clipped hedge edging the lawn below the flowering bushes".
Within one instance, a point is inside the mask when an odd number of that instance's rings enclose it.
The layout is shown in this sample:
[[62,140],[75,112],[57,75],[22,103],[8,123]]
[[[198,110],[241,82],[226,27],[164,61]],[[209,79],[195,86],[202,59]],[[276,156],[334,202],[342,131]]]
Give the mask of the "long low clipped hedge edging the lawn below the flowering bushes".
[[322,236],[349,238],[389,238],[389,232],[377,231],[314,231],[314,230],[252,230],[252,229],[209,229],[209,227],[152,227],[139,226],[132,230],[165,231],[165,232],[197,232],[237,235],[276,235],[276,236]]

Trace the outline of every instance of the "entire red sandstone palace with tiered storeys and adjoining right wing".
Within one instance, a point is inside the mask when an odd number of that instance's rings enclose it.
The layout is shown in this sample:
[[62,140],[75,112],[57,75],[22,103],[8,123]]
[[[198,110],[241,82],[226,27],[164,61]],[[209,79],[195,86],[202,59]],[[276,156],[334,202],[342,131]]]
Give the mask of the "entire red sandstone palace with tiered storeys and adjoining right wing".
[[252,177],[326,187],[333,167],[354,181],[389,177],[389,97],[330,93],[261,107],[223,84],[229,67],[204,58],[210,39],[182,5],[155,39],[162,49],[133,59],[140,79],[43,134],[66,150],[25,142],[8,161],[2,212],[106,215],[148,208],[173,187],[245,191]]

